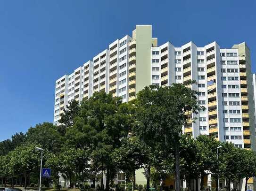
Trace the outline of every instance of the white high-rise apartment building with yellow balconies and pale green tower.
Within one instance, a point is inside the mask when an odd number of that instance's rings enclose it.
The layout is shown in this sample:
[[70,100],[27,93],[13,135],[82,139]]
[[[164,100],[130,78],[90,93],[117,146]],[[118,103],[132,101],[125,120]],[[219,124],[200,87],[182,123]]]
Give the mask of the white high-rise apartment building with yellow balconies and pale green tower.
[[[197,84],[190,85],[190,80]],[[80,102],[93,92],[105,91],[130,101],[149,84],[183,83],[199,92],[199,104],[206,107],[191,115],[197,120],[188,121],[184,133],[193,137],[207,134],[255,150],[252,81],[245,43],[232,48],[220,48],[217,42],[203,47],[193,42],[181,47],[170,42],[158,46],[151,25],[136,25],[132,37],[117,39],[92,61],[56,81],[54,123],[58,125],[72,99]]]

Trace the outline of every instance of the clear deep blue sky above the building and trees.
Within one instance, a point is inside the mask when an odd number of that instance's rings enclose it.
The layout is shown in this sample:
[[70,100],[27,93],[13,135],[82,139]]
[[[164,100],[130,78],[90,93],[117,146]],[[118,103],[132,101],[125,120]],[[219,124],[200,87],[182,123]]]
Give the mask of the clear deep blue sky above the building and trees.
[[0,0],[0,140],[52,122],[55,80],[136,24],[158,44],[246,41],[256,71],[256,0]]

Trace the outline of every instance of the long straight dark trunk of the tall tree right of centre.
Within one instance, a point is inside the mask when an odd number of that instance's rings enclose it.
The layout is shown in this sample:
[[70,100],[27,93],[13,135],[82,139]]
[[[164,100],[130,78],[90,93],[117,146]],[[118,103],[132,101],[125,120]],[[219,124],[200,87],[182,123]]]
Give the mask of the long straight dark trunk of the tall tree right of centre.
[[179,135],[176,135],[174,138],[175,146],[175,191],[181,190],[181,178],[180,178],[180,140]]

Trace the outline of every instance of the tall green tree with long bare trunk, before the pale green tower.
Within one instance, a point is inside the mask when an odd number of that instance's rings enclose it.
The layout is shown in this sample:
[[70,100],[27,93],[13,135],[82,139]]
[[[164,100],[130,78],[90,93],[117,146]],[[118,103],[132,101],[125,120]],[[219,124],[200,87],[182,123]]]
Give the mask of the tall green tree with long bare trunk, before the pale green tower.
[[197,113],[199,108],[196,93],[183,84],[150,85],[137,94],[135,102],[139,123],[136,134],[151,148],[159,144],[165,154],[169,155],[174,148],[177,191],[180,191],[180,134],[190,117],[186,113]]

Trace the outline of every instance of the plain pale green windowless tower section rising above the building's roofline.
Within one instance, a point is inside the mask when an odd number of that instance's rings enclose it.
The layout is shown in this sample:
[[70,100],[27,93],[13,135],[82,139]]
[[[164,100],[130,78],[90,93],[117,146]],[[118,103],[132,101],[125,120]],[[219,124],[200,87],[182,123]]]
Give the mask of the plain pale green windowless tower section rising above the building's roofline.
[[151,83],[152,26],[136,25],[136,94]]

